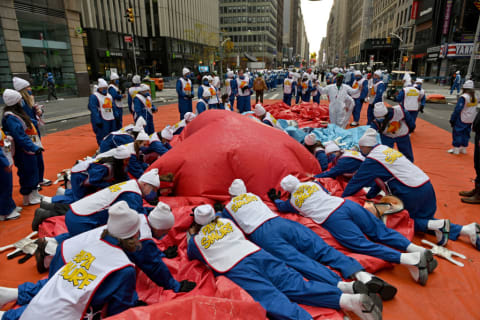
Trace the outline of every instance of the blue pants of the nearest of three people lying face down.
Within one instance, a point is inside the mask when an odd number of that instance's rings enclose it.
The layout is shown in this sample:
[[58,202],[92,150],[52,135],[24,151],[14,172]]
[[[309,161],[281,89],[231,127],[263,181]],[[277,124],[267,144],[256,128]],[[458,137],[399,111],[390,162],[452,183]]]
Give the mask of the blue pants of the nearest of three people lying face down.
[[224,275],[258,301],[270,319],[312,319],[296,303],[340,309],[340,289],[305,281],[300,273],[263,250],[244,258]]

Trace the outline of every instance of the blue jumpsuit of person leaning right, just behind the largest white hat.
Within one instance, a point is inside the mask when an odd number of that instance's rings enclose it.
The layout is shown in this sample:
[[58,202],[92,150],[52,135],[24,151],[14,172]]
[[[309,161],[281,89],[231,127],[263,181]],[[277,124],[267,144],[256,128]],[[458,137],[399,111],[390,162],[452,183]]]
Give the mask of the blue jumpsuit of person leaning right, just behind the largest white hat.
[[[124,192],[120,194],[120,196],[116,198],[114,202],[112,202],[112,205],[122,200],[128,203],[130,209],[133,209],[139,213],[145,212],[143,209],[143,198],[141,195],[134,192]],[[95,229],[96,227],[103,226],[107,223],[107,219],[108,208],[89,216],[80,216],[74,214],[70,207],[65,214],[65,224],[67,225],[68,233],[71,237],[82,232]]]

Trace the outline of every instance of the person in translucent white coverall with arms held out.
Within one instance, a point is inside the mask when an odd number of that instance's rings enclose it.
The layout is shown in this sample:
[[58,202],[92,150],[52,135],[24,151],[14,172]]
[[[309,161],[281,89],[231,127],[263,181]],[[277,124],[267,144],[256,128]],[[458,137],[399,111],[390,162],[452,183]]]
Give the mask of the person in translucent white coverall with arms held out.
[[343,84],[343,74],[339,73],[336,77],[336,83],[321,88],[320,92],[326,94],[330,101],[328,107],[330,123],[346,128],[355,106],[351,95],[358,92],[358,89],[352,89],[352,87]]

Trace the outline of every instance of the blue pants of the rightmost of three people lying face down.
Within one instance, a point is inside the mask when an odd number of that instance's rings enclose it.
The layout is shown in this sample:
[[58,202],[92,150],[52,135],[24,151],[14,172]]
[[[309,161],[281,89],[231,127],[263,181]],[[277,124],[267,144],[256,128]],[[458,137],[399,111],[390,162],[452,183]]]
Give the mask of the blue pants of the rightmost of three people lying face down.
[[405,251],[410,244],[410,240],[387,228],[380,219],[350,200],[345,200],[322,227],[348,249],[388,262],[400,263],[397,250]]

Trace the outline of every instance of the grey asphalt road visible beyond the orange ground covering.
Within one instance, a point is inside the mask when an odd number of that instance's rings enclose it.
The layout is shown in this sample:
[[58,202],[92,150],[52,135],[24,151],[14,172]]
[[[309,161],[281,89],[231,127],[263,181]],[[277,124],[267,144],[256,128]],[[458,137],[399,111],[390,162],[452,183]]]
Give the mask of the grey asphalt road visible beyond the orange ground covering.
[[[281,88],[277,88],[275,91],[265,93],[265,99],[282,99]],[[447,104],[434,104],[427,103],[425,106],[425,112],[419,115],[421,119],[424,119],[442,129],[451,132],[450,123],[448,122],[450,115],[455,107],[454,99],[449,99]],[[158,93],[157,102],[155,105],[162,106],[170,103],[176,103],[177,97],[175,89],[165,89]],[[387,100],[390,104],[394,104],[393,101]],[[53,101],[45,103],[46,109],[46,133],[53,133],[57,131],[67,130],[77,127],[79,125],[87,124],[90,122],[88,115],[88,98],[71,98],[63,101]],[[125,103],[126,106],[126,103]],[[124,114],[127,114],[128,110],[124,109]]]

